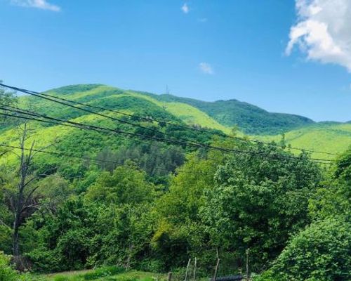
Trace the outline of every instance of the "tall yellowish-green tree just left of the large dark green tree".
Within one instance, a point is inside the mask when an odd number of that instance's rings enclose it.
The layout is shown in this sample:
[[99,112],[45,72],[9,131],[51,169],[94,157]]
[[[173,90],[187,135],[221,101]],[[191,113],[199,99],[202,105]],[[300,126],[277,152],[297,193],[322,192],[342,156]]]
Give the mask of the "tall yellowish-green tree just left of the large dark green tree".
[[165,268],[183,266],[189,254],[204,251],[199,209],[204,190],[214,184],[216,161],[192,158],[180,169],[183,172],[172,178],[169,192],[154,207],[158,223],[152,244]]

